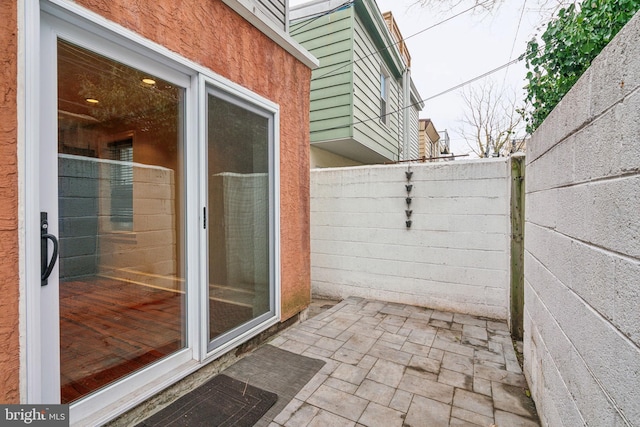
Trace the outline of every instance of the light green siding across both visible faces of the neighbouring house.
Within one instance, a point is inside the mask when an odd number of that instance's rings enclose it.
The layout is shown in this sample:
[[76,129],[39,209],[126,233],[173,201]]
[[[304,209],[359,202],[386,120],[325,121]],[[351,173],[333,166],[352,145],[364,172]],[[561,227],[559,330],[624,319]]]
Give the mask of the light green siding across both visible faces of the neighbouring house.
[[[402,60],[373,0],[291,24],[320,61],[311,80],[311,143],[347,140],[398,160],[403,143]],[[380,119],[380,70],[389,77],[388,123]],[[417,117],[416,126],[417,126]]]

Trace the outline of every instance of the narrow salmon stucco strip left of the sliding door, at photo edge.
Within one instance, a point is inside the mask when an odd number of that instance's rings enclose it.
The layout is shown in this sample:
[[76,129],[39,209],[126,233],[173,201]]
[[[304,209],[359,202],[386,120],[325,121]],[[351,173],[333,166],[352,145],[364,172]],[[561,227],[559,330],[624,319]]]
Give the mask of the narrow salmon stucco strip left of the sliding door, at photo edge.
[[17,0],[0,2],[0,403],[18,403]]

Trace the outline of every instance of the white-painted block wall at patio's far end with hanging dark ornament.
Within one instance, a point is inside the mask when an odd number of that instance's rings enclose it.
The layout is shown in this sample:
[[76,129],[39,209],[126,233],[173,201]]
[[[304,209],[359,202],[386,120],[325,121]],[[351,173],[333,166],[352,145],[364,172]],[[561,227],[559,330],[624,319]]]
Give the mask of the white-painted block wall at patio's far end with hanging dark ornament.
[[360,296],[506,319],[506,159],[311,171],[314,295]]

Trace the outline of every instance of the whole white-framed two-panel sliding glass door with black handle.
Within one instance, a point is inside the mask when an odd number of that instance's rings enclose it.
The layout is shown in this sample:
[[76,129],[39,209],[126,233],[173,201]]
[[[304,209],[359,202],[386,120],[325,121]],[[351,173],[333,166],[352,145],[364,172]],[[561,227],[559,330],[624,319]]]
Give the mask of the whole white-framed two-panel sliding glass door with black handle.
[[75,422],[279,320],[278,106],[54,9],[28,98],[28,400]]

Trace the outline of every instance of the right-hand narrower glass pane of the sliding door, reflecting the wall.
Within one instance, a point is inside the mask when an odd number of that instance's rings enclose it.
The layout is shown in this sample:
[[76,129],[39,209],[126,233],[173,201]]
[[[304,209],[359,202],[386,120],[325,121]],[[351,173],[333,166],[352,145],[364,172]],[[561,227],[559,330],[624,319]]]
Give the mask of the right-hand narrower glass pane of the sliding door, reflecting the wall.
[[209,338],[270,310],[269,120],[208,99]]

